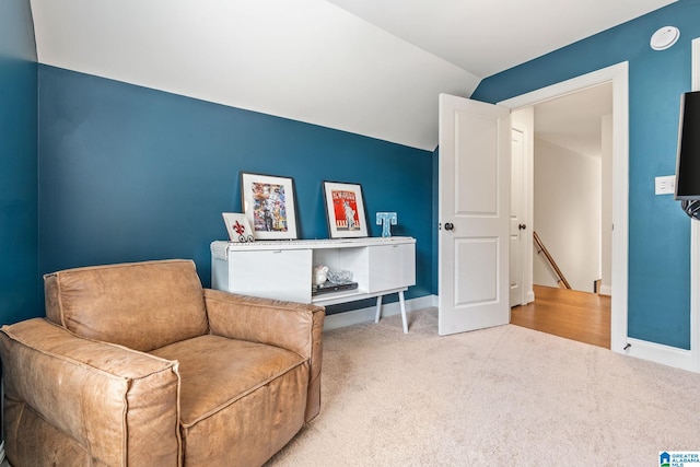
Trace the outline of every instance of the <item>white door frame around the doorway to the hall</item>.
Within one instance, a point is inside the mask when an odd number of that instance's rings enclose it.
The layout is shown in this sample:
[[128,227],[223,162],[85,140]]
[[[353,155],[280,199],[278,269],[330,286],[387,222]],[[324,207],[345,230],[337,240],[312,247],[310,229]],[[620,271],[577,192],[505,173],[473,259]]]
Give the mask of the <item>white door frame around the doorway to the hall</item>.
[[[628,241],[629,241],[629,63],[603,68],[498,104],[517,110],[599,84],[612,83],[612,297],[610,350],[629,353]],[[533,189],[532,184],[529,188]],[[529,265],[532,268],[532,264]]]

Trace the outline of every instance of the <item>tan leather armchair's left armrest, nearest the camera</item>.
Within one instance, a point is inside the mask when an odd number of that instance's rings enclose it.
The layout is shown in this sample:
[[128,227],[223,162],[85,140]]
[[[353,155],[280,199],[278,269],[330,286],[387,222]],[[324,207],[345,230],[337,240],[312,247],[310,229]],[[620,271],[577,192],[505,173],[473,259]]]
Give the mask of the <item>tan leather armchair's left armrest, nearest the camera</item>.
[[177,362],[42,318],[3,326],[0,357],[11,462],[179,464]]

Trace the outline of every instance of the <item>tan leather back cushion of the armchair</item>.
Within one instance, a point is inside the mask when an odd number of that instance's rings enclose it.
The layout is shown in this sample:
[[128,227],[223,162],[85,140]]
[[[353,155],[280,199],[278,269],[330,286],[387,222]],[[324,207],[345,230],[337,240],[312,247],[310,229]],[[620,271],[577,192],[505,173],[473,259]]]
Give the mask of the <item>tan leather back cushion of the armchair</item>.
[[190,260],[68,269],[44,280],[46,317],[79,336],[148,352],[209,329]]

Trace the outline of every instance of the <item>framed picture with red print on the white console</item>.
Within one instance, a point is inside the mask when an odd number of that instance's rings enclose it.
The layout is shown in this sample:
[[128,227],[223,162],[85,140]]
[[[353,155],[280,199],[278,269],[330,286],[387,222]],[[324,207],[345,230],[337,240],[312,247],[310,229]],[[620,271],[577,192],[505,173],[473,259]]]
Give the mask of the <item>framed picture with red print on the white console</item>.
[[328,233],[331,238],[368,236],[362,186],[324,182]]

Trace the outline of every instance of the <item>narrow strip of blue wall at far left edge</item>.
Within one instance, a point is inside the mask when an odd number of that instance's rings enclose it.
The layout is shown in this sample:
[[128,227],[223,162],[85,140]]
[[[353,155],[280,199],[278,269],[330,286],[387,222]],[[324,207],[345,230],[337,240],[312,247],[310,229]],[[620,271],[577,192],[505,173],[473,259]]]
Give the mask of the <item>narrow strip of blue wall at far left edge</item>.
[[0,323],[42,315],[37,75],[28,0],[0,2]]

